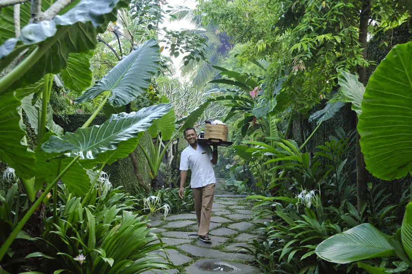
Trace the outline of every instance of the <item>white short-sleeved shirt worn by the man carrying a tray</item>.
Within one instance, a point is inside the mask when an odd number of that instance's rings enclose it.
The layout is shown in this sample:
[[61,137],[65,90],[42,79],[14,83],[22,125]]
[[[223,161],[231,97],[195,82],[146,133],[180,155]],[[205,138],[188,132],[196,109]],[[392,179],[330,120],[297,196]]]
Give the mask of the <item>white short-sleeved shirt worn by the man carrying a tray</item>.
[[190,145],[182,151],[180,156],[180,170],[192,171],[190,186],[201,188],[216,183],[215,172],[213,171],[212,149],[209,146],[197,144],[196,150]]

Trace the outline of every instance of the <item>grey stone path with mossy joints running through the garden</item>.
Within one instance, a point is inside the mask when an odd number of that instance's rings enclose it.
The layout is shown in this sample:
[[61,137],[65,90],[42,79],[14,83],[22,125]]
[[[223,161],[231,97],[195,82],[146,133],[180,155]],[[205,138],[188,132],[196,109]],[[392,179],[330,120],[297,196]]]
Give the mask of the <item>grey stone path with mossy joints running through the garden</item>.
[[[159,241],[174,248],[166,251],[176,269],[165,273],[261,273],[258,268],[250,266],[254,257],[242,249],[248,241],[259,237],[255,224],[260,220],[253,220],[250,210],[252,204],[245,196],[226,192],[224,183],[223,179],[218,179],[216,183],[210,223],[212,243],[204,243],[197,238],[194,212],[168,216],[160,222],[149,222],[155,228],[152,232],[157,234]],[[159,254],[166,256],[163,252],[157,252]],[[153,273],[162,272],[144,272]]]

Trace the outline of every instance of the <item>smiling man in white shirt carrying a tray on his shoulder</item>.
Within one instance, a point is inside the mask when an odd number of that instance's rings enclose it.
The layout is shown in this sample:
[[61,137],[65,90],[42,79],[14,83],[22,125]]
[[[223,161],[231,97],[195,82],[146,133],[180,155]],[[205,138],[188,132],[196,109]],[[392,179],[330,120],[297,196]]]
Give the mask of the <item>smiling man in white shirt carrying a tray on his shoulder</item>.
[[183,186],[187,170],[190,167],[192,171],[190,187],[195,199],[196,218],[199,226],[198,236],[203,242],[210,242],[208,233],[216,184],[212,164],[217,164],[217,146],[213,147],[212,154],[209,146],[199,145],[194,128],[186,128],[183,135],[189,146],[182,151],[180,156],[179,196],[183,198]]

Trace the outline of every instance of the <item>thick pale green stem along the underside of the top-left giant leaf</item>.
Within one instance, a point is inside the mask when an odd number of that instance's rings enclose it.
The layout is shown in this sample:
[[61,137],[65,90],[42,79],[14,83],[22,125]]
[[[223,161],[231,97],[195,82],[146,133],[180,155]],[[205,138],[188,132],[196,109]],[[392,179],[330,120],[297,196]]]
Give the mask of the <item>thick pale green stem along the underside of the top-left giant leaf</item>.
[[19,63],[13,70],[7,73],[4,77],[2,77],[0,79],[0,94],[6,91],[11,91],[9,87],[12,84],[14,84],[19,78],[23,77],[23,75],[38,60],[40,60],[40,58],[50,49],[50,47],[69,30],[69,28],[70,26],[60,27],[56,35],[45,40],[41,45],[37,46],[21,63]]

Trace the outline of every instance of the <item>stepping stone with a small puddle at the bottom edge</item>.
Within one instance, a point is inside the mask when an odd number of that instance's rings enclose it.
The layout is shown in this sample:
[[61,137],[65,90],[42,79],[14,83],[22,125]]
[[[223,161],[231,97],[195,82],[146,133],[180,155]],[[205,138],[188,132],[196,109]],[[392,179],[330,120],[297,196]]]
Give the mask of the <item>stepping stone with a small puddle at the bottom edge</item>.
[[202,259],[198,260],[184,270],[187,274],[208,274],[208,273],[233,273],[233,274],[254,274],[261,273],[255,267],[225,262],[221,260]]

